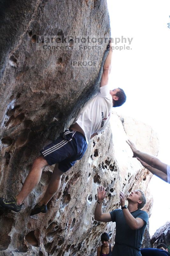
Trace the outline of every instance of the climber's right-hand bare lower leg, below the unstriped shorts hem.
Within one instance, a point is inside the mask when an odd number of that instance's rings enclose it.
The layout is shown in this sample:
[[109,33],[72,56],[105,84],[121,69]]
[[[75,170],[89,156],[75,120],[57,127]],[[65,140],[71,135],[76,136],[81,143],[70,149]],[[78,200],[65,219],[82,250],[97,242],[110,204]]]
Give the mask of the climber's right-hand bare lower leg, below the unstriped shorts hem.
[[50,182],[48,184],[48,188],[41,199],[41,201],[38,203],[39,205],[47,204],[49,200],[55,195],[55,193],[60,188],[61,184],[61,178],[64,172],[60,171],[58,169],[58,164],[55,164],[53,174],[51,176]]

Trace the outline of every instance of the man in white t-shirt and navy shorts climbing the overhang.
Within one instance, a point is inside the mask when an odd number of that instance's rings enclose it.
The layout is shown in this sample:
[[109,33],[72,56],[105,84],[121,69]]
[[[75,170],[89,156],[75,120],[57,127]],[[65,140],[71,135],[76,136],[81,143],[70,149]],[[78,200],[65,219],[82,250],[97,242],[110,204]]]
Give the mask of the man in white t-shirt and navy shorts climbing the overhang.
[[98,95],[80,110],[69,130],[62,132],[54,142],[40,151],[41,156],[34,160],[31,171],[26,177],[19,194],[7,199],[1,197],[0,205],[2,207],[19,212],[26,197],[39,183],[43,168],[55,164],[48,188],[30,215],[48,211],[47,203],[58,191],[63,173],[67,172],[77,160],[83,157],[89,141],[106,129],[112,107],[116,107],[115,102],[121,100],[117,105],[120,106],[125,101],[125,96],[121,96],[122,94],[124,95],[122,89],[109,90],[108,78],[111,71],[112,52],[112,43],[110,41],[109,53],[103,65]]

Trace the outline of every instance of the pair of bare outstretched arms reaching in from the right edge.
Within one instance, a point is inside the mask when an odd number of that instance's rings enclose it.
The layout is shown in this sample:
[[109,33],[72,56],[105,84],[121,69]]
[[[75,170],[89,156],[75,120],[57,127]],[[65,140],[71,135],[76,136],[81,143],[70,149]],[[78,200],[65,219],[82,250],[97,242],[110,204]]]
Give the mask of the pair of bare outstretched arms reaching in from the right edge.
[[132,141],[127,140],[126,142],[133,152],[133,157],[136,157],[144,168],[152,172],[152,174],[156,175],[160,179],[170,183],[170,165],[162,163],[155,156],[151,156],[138,150]]

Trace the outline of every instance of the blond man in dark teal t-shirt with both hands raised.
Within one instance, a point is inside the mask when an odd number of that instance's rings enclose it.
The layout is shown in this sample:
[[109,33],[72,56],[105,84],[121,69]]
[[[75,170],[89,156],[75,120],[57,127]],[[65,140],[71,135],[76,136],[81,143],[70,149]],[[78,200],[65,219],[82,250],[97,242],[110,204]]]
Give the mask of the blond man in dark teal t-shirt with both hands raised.
[[98,200],[94,219],[116,222],[115,245],[112,255],[141,256],[142,237],[148,222],[147,212],[140,210],[146,203],[144,193],[140,189],[132,191],[127,196],[128,206],[126,206],[125,194],[120,192],[121,209],[103,213],[102,203],[106,197],[106,191],[103,186],[100,186],[97,191]]

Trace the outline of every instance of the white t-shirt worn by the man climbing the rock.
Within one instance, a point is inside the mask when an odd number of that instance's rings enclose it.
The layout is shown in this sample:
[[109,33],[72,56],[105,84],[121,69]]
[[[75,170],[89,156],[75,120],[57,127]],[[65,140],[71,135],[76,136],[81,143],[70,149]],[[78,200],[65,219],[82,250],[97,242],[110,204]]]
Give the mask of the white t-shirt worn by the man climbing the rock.
[[87,102],[73,121],[73,124],[77,123],[83,129],[87,143],[93,133],[100,134],[106,129],[111,109],[112,96],[107,84],[100,87],[97,96]]

